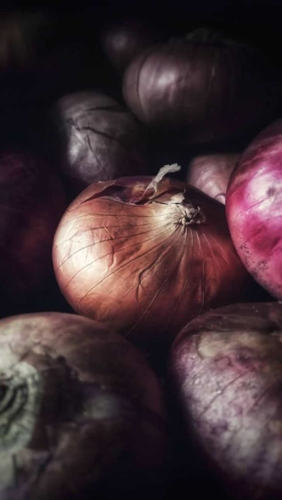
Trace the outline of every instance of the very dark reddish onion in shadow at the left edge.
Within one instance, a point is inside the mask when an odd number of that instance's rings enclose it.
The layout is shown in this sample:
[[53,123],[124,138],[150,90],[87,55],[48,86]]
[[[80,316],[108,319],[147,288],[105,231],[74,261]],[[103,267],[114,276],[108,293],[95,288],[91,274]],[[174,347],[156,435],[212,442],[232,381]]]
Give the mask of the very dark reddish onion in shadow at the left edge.
[[0,154],[0,314],[47,286],[65,193],[49,165],[30,152]]

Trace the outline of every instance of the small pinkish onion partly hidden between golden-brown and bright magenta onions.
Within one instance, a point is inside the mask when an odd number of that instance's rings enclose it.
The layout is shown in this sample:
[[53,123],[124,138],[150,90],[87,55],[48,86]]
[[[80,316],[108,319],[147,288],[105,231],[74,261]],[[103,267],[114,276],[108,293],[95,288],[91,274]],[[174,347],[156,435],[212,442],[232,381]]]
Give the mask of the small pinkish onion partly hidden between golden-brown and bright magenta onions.
[[238,158],[238,153],[196,156],[188,165],[186,182],[225,204],[228,180]]

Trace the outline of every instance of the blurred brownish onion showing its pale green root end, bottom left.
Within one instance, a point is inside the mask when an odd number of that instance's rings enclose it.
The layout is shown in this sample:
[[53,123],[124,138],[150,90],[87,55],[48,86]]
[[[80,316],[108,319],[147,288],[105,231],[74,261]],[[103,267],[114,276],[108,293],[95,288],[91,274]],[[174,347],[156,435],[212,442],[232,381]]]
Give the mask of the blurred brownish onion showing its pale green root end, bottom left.
[[0,321],[0,426],[1,500],[127,498],[163,470],[153,371],[114,330],[76,314]]

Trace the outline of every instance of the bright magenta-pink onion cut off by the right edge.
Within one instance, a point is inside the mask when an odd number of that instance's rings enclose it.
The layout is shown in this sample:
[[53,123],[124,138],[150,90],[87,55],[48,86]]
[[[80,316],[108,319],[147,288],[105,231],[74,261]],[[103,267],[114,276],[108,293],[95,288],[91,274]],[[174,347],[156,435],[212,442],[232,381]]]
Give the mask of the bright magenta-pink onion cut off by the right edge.
[[226,214],[234,245],[252,276],[282,299],[282,120],[260,132],[229,179]]

